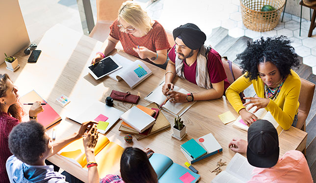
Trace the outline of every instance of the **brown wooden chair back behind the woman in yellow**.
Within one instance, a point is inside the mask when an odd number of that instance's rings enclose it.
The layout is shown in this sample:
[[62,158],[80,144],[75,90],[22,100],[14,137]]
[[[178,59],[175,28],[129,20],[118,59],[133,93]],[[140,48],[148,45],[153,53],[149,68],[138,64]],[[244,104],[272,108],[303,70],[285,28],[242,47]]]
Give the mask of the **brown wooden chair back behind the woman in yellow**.
[[299,107],[297,114],[296,128],[306,131],[306,118],[310,113],[315,84],[301,78],[301,92],[298,97]]

